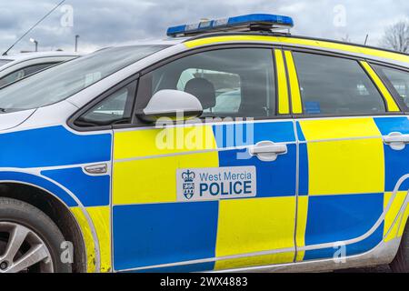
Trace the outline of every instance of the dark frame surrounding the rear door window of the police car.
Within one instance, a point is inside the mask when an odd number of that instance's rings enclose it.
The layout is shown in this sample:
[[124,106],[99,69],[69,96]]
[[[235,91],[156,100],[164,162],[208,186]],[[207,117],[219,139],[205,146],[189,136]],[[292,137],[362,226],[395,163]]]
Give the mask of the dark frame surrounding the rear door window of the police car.
[[[353,117],[353,116],[384,116],[384,115],[404,115],[404,110],[402,107],[401,102],[398,102],[396,100],[396,96],[393,94],[393,92],[391,92],[390,88],[385,84],[384,79],[381,77],[381,75],[378,74],[378,72],[376,70],[374,70],[374,72],[379,76],[379,78],[381,79],[382,83],[386,86],[386,89],[389,91],[389,93],[392,95],[394,102],[396,103],[396,105],[398,105],[399,110],[400,111],[396,111],[396,112],[390,112],[388,111],[388,106],[386,103],[386,99],[384,97],[384,95],[382,94],[382,92],[380,91],[380,89],[378,88],[378,86],[374,83],[374,79],[372,78],[371,75],[368,74],[368,72],[366,72],[366,70],[364,69],[364,66],[361,64],[361,62],[366,62],[369,65],[375,63],[372,59],[367,59],[365,57],[361,57],[361,56],[356,56],[356,55],[348,55],[348,54],[342,54],[342,53],[334,53],[334,52],[330,52],[330,51],[325,51],[325,50],[316,50],[316,49],[312,49],[312,48],[304,48],[304,47],[298,47],[298,46],[289,46],[289,45],[284,45],[283,46],[283,51],[291,51],[291,54],[293,54],[294,52],[298,52],[298,53],[305,53],[305,54],[312,54],[312,55],[324,55],[324,56],[332,56],[332,57],[338,57],[338,58],[343,58],[343,59],[349,59],[349,60],[353,60],[355,62],[357,62],[357,64],[362,68],[363,72],[365,75],[368,76],[368,78],[370,79],[370,81],[372,82],[372,84],[374,85],[376,91],[379,93],[379,95],[381,95],[383,101],[384,101],[384,107],[386,109],[386,112],[384,113],[379,113],[379,114],[336,114],[336,115],[308,115],[305,114],[304,111],[302,114],[293,114],[293,118],[296,119],[308,119],[308,118],[328,118],[328,117]],[[384,64],[382,62],[379,62],[380,64]],[[288,66],[287,62],[285,61],[285,65]],[[295,65],[295,64],[294,64]],[[372,65],[371,65],[372,66]],[[373,67],[374,69],[374,67]],[[288,68],[287,68],[287,72],[288,72]],[[299,80],[299,74],[297,71],[297,67],[295,65],[295,74],[297,75],[297,78]],[[287,74],[288,75],[288,74]],[[289,82],[289,78],[287,76],[287,82]],[[299,83],[299,82],[298,82]],[[300,84],[299,85],[299,90],[300,90],[300,97],[301,97],[301,102],[303,102],[302,98],[303,96],[301,95],[301,88],[300,88]],[[290,93],[291,94],[291,93]],[[400,96],[399,96],[400,98]],[[290,95],[290,100],[292,100],[292,95]],[[293,109],[293,108],[291,108]],[[291,111],[292,112],[292,111]]]

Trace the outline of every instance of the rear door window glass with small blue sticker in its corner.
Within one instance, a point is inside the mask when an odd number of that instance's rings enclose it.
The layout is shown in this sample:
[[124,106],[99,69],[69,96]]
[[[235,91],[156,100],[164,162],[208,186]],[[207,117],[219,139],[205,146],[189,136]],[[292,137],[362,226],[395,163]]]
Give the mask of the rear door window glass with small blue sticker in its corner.
[[294,52],[306,115],[373,115],[386,111],[384,98],[351,59]]

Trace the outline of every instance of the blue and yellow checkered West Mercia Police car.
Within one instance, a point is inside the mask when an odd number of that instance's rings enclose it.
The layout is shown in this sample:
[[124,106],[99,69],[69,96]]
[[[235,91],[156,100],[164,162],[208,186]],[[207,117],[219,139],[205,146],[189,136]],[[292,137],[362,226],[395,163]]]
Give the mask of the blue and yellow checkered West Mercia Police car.
[[175,26],[1,90],[0,272],[407,272],[409,56],[292,26]]

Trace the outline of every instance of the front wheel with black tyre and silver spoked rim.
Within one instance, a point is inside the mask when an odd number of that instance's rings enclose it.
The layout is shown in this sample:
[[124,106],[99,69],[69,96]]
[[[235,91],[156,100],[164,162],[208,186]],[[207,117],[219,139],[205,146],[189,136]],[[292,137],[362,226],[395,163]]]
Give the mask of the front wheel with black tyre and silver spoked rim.
[[[9,244],[17,241],[11,237],[25,238],[20,239],[22,244]],[[20,200],[0,197],[0,272],[71,273],[71,264],[61,259],[64,241],[58,226],[40,209]],[[10,251],[7,246],[12,245],[18,249]],[[32,260],[24,260],[30,254],[38,260],[32,266],[28,266]]]

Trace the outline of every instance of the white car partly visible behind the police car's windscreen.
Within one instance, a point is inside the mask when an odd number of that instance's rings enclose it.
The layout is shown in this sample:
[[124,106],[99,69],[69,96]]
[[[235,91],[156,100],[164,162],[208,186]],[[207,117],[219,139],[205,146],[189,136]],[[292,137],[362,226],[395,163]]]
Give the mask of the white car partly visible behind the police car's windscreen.
[[78,57],[65,52],[22,53],[0,56],[0,87],[11,84],[27,75]]

